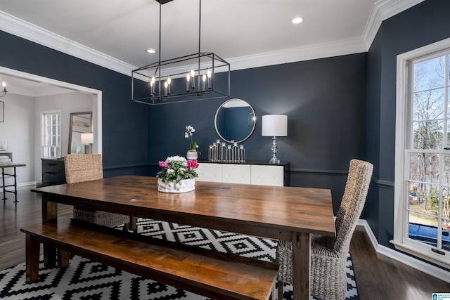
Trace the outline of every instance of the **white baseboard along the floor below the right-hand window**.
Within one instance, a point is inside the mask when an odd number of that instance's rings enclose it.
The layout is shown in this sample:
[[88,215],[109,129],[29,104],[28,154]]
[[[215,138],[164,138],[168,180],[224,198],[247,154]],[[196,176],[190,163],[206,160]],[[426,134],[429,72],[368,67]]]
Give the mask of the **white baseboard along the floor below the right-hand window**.
[[390,259],[394,259],[406,264],[407,266],[410,266],[411,268],[415,268],[416,270],[420,270],[425,274],[450,283],[450,272],[437,266],[433,266],[430,263],[426,263],[425,261],[420,261],[413,256],[403,254],[395,249],[391,249],[389,247],[383,246],[382,244],[378,244],[378,240],[376,239],[371,226],[368,225],[366,220],[359,219],[357,225],[364,227],[364,230],[366,230],[366,233],[372,242],[373,249],[375,249],[378,254],[387,256]]

